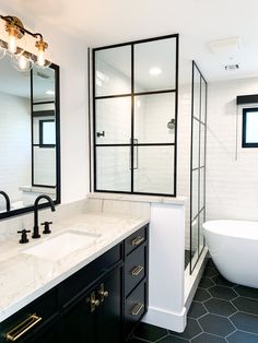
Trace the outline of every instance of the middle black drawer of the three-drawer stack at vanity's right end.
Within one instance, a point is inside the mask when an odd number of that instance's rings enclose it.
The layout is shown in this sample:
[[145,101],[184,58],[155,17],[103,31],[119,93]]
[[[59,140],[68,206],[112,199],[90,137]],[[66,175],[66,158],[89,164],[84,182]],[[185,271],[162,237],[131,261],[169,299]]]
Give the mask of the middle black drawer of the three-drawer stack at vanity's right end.
[[126,296],[146,275],[146,247],[140,246],[126,258],[125,263],[125,292]]

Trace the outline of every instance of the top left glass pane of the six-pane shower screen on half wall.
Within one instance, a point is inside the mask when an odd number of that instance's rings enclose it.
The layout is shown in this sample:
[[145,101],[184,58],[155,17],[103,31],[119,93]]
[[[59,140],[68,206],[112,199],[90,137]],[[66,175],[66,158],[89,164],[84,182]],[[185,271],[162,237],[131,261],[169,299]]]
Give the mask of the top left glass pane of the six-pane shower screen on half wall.
[[95,52],[96,96],[131,93],[131,47],[122,46]]

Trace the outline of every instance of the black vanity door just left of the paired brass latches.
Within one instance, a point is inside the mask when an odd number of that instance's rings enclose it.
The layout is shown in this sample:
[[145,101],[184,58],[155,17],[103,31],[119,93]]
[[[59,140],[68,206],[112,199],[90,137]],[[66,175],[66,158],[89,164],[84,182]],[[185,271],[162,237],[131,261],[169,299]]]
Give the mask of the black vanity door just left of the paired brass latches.
[[59,343],[95,343],[96,309],[92,311],[91,293],[74,304],[59,320]]

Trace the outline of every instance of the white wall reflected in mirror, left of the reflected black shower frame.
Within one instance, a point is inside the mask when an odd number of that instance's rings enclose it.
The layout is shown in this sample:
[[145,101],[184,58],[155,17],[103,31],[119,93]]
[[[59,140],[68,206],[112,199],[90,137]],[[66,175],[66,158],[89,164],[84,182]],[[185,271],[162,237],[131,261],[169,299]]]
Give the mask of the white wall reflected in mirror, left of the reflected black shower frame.
[[[31,182],[31,103],[0,93],[0,190],[11,201],[21,199],[19,187]],[[3,204],[2,197],[0,204]]]

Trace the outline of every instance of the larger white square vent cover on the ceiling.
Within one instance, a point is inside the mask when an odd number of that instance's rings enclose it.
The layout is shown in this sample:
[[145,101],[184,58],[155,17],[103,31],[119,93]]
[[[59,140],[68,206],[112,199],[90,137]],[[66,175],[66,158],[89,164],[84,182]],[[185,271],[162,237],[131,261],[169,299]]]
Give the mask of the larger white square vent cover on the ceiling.
[[209,49],[213,55],[234,55],[241,50],[241,38],[231,37],[225,39],[212,40],[209,44]]

